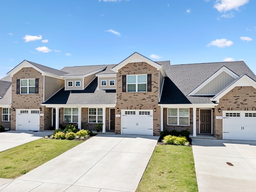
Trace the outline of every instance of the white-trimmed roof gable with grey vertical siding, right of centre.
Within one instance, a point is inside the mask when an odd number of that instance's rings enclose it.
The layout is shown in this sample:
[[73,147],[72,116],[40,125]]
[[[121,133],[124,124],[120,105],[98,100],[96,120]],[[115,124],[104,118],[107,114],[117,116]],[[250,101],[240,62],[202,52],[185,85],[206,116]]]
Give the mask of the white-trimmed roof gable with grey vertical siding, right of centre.
[[226,66],[223,66],[192,92],[190,92],[188,96],[216,95],[238,77],[239,76],[237,74],[232,72]]

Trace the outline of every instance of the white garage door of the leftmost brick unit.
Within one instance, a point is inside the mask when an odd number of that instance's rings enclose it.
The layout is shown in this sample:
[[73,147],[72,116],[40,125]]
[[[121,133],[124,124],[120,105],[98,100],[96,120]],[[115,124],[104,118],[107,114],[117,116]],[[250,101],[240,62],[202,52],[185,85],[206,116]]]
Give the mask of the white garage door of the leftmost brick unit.
[[37,109],[17,109],[16,129],[39,131],[40,111]]

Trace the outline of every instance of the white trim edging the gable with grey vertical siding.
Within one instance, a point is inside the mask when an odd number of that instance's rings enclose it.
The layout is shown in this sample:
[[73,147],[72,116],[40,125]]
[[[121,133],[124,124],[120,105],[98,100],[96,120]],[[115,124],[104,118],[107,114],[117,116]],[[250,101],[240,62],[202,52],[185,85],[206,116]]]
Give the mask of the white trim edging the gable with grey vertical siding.
[[232,72],[230,69],[227,67],[223,66],[220,68],[218,71],[216,71],[212,76],[210,76],[208,79],[206,79],[202,84],[200,84],[197,88],[195,88],[192,92],[188,94],[188,96],[193,96],[195,95],[198,91],[200,91],[204,86],[206,86],[209,82],[214,80],[219,74],[222,72],[226,72],[228,75],[232,76],[234,79],[237,79],[239,76]]

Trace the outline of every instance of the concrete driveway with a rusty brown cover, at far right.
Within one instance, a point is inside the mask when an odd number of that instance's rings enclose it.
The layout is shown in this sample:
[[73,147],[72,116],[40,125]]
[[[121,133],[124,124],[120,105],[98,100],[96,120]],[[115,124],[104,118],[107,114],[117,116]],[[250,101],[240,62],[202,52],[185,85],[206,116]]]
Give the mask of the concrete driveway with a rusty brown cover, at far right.
[[192,144],[199,192],[256,191],[256,142],[192,139]]

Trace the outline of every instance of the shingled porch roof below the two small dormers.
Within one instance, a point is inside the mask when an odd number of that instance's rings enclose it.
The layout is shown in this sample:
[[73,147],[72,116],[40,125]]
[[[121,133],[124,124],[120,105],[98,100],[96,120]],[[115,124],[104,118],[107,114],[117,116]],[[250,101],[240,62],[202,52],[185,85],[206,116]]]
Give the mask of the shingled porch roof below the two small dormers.
[[64,90],[62,88],[43,104],[116,104],[116,90],[98,90],[96,77],[84,90]]

